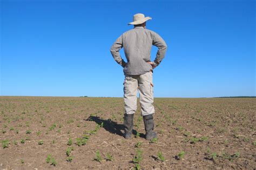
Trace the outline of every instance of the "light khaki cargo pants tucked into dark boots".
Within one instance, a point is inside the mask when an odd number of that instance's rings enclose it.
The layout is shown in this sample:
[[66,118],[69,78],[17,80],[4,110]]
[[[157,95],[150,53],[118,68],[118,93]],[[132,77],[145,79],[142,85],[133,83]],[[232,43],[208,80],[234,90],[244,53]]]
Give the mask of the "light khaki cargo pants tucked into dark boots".
[[153,73],[151,71],[138,76],[125,76],[124,104],[126,114],[133,114],[137,110],[137,90],[139,90],[142,115],[153,114]]

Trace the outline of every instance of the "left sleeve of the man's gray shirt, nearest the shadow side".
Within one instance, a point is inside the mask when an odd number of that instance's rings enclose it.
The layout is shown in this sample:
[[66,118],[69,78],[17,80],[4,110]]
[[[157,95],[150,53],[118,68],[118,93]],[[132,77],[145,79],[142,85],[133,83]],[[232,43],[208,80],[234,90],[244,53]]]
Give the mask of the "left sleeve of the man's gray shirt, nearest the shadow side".
[[112,45],[110,52],[114,60],[116,60],[116,62],[120,64],[122,67],[125,67],[127,63],[125,63],[125,61],[122,59],[119,52],[120,49],[122,49],[122,47],[123,47],[123,35],[117,38],[117,40]]

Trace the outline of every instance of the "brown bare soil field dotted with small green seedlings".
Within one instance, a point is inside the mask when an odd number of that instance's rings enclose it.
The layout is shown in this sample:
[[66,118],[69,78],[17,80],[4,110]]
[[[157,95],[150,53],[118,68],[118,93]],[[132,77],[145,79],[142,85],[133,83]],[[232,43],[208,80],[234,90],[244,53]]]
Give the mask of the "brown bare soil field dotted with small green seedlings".
[[155,98],[154,106],[158,140],[144,139],[139,104],[126,140],[122,98],[0,97],[0,169],[255,169],[255,98]]

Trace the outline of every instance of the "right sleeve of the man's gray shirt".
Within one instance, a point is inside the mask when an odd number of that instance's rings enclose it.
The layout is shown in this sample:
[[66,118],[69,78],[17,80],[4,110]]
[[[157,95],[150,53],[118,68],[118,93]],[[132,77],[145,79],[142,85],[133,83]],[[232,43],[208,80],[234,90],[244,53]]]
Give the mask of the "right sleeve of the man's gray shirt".
[[161,60],[163,60],[165,56],[167,45],[164,39],[161,38],[156,32],[152,33],[152,39],[153,39],[152,44],[158,47],[157,56],[156,56],[156,59],[154,59],[153,64],[155,66],[158,66],[161,63]]

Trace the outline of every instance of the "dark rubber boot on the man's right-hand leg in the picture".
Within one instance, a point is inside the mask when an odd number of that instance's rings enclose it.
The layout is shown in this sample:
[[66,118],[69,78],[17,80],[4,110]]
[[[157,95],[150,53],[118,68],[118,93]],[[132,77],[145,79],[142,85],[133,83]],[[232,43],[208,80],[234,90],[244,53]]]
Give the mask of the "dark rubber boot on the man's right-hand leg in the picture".
[[157,133],[153,132],[154,130],[153,114],[144,115],[143,121],[144,121],[145,131],[146,131],[146,140],[151,140],[153,138],[156,138]]

